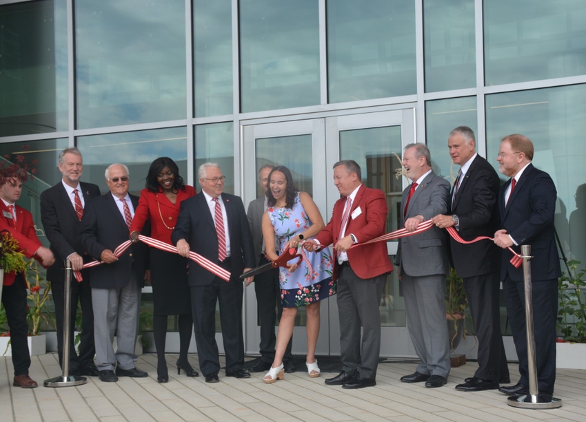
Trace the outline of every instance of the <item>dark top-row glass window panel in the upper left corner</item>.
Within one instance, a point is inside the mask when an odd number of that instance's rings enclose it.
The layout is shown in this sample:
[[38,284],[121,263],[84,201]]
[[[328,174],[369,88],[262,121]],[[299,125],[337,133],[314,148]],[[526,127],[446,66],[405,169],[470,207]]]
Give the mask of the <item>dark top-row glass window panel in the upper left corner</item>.
[[68,129],[67,3],[0,7],[0,136]]

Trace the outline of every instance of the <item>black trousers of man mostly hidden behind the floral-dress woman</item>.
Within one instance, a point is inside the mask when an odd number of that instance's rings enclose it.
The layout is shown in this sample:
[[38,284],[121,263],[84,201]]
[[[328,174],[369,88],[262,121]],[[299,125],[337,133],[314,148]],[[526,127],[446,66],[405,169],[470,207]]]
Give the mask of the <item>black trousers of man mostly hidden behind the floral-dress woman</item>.
[[[259,261],[259,266],[270,262],[264,256]],[[279,284],[279,268],[260,273],[254,277],[254,293],[256,293],[256,308],[259,313],[261,326],[261,342],[259,351],[261,361],[272,363],[274,360],[274,348],[276,344],[275,324],[281,320],[283,306],[281,302],[281,286]],[[292,361],[291,346],[293,338],[289,340],[285,349],[283,362]]]

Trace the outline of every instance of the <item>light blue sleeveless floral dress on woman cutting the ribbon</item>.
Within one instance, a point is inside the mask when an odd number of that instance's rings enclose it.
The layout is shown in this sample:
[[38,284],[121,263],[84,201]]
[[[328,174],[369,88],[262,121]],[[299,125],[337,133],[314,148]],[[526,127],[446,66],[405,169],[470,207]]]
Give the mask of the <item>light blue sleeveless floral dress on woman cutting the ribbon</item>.
[[[301,205],[299,193],[295,196],[292,209],[269,207],[267,213],[279,240],[280,253],[283,253],[290,238],[303,233],[312,225]],[[305,306],[336,294],[336,284],[332,281],[333,263],[330,249],[306,253],[312,265],[312,273],[305,261],[301,261],[294,273],[290,273],[287,268],[279,267],[281,301],[285,308]],[[292,262],[296,260],[297,258]]]

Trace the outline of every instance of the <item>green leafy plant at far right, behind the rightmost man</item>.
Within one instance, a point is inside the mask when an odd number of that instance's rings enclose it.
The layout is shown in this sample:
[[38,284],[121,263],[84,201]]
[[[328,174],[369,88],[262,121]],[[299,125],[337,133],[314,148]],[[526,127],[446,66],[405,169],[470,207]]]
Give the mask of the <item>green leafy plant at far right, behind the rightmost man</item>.
[[567,262],[568,273],[558,279],[558,331],[564,341],[586,343],[586,271],[580,261]]

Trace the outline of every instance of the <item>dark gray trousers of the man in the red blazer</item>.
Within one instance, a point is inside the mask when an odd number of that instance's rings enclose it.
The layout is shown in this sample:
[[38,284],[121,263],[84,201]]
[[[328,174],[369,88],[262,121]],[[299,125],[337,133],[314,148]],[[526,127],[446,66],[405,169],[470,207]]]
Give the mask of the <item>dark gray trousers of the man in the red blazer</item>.
[[[338,278],[340,354],[345,372],[376,379],[381,354],[381,295],[387,275],[363,279],[343,265]],[[361,339],[361,325],[363,328]]]

